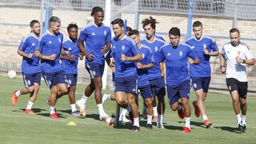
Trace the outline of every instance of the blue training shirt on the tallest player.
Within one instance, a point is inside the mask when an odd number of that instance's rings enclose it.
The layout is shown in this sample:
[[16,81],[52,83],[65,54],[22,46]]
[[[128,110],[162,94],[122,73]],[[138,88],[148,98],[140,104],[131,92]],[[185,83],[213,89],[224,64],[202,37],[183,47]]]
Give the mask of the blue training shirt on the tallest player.
[[85,41],[86,51],[94,56],[92,61],[88,61],[86,58],[85,62],[97,62],[103,65],[105,59],[102,49],[105,48],[107,42],[110,42],[111,38],[110,27],[105,26],[103,23],[100,28],[95,23],[91,23],[89,26],[83,28],[79,39]]

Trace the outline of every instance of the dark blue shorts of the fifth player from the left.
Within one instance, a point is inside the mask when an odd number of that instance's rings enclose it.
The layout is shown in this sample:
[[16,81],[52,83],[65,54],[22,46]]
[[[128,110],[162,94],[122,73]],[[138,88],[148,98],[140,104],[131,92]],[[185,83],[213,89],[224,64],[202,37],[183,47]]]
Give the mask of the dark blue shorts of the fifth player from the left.
[[114,92],[129,92],[137,94],[137,74],[128,77],[114,77]]

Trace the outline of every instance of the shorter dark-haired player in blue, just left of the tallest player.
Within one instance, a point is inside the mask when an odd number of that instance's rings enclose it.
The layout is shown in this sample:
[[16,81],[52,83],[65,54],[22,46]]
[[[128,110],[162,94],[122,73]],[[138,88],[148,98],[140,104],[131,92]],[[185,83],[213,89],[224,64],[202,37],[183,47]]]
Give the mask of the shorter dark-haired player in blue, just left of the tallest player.
[[78,48],[78,25],[70,23],[68,25],[69,38],[63,41],[64,55],[60,55],[62,60],[63,71],[68,83],[68,98],[70,100],[71,114],[80,116],[75,109],[75,89],[78,81],[78,57],[80,50]]

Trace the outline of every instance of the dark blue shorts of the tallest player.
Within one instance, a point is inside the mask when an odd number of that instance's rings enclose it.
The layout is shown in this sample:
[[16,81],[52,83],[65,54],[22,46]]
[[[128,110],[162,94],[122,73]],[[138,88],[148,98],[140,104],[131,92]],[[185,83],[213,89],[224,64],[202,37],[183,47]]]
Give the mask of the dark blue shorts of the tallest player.
[[91,79],[94,79],[95,77],[102,77],[105,64],[100,65],[96,62],[90,62],[85,64],[85,68],[87,72],[89,72]]

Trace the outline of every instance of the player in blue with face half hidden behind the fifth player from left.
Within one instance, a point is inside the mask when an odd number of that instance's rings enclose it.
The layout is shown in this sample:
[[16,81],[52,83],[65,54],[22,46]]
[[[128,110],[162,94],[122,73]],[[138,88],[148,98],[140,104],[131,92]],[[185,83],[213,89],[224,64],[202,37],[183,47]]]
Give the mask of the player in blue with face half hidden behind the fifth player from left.
[[136,42],[139,48],[139,52],[141,52],[142,54],[142,60],[137,62],[138,89],[146,105],[146,113],[147,113],[146,128],[152,129],[151,121],[153,117],[153,104],[152,104],[153,95],[151,93],[151,87],[150,87],[147,71],[148,69],[154,67],[154,57],[152,55],[151,49],[146,45],[142,45],[142,43],[140,42],[139,31],[132,30],[129,33],[129,37]]

